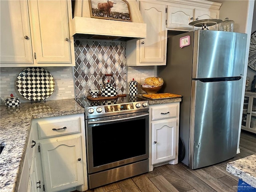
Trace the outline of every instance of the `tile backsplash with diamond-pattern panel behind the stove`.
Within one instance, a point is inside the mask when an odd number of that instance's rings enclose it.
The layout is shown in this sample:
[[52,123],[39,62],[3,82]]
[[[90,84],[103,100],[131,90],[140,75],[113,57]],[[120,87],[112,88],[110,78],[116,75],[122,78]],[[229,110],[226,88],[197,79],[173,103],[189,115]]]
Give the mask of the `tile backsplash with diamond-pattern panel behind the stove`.
[[[54,92],[47,100],[60,100],[88,96],[88,91],[100,89],[102,76],[113,74],[114,86],[118,94],[126,94],[129,81],[134,78],[144,84],[145,78],[154,76],[154,66],[126,66],[126,42],[104,42],[76,40],[75,67],[42,67],[52,74],[55,81]],[[28,67],[0,67],[0,96],[13,94],[21,102],[30,102],[18,92],[18,74]],[[142,92],[138,88],[138,93]],[[4,104],[0,100],[1,104]]]

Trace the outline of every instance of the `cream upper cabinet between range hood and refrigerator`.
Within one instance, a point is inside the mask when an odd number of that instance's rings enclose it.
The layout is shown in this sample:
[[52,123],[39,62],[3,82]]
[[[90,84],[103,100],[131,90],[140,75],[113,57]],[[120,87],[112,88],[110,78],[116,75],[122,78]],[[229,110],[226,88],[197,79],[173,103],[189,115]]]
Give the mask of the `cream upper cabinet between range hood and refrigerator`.
[[140,12],[147,24],[147,37],[127,42],[128,66],[166,65],[166,5],[156,0],[140,1]]

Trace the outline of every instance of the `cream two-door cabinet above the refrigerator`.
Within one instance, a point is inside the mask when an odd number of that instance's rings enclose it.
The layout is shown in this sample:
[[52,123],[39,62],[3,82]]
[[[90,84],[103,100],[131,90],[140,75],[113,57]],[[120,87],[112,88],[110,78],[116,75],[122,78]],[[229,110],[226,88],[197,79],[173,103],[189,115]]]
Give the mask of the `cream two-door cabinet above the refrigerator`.
[[[170,30],[198,30],[189,23],[202,19],[218,19],[221,3],[206,0],[200,1],[172,1],[167,9],[167,28]],[[209,26],[210,30],[218,30],[218,25]]]

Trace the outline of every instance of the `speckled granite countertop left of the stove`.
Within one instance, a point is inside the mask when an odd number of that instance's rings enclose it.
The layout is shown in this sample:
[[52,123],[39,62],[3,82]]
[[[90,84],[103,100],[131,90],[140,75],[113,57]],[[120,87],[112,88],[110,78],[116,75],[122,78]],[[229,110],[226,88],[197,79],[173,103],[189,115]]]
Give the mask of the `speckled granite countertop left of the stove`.
[[18,108],[0,106],[0,191],[16,192],[27,147],[30,122],[34,118],[84,113],[74,99],[21,103]]

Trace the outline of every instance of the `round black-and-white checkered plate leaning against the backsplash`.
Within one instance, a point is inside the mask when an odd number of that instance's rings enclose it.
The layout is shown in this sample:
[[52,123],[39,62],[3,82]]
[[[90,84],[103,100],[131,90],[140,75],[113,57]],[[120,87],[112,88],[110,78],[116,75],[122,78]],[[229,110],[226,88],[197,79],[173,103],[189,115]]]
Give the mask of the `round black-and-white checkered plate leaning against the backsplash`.
[[48,98],[54,91],[54,78],[50,72],[41,67],[24,69],[17,77],[18,92],[30,101],[41,101]]

